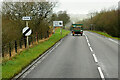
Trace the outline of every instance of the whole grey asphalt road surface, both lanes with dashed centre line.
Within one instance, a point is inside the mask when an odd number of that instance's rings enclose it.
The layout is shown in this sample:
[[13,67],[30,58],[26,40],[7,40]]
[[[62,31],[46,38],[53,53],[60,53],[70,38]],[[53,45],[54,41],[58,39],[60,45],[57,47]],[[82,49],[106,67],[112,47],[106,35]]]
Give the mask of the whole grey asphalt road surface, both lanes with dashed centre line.
[[70,34],[23,76],[24,78],[118,78],[118,44],[87,31],[83,36]]

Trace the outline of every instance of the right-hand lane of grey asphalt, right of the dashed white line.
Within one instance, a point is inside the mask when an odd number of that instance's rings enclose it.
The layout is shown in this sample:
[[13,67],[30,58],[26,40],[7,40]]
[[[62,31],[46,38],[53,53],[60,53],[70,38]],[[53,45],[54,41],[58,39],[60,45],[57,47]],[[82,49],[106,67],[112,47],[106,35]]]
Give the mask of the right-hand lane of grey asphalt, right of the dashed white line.
[[118,41],[109,40],[96,33],[85,32],[106,78],[118,78]]

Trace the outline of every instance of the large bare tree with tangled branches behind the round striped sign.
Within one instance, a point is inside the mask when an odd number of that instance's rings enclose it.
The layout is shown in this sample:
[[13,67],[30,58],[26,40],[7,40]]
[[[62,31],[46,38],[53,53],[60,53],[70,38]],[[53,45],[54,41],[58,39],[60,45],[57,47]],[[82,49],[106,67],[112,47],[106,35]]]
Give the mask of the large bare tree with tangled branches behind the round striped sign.
[[[7,34],[11,31],[11,29],[14,29],[12,30],[13,32],[21,34],[23,27],[25,27],[25,21],[22,21],[23,16],[32,17],[32,20],[29,21],[29,27],[33,30],[33,34],[35,34],[35,32],[40,32],[42,34],[46,33],[49,29],[48,21],[50,20],[48,19],[50,18],[50,15],[52,15],[55,5],[56,3],[45,2],[45,0],[44,2],[3,2],[3,23],[6,21],[10,22],[8,22],[9,27],[7,26],[8,23],[4,23],[3,25],[4,37],[8,36]],[[9,35],[15,36],[17,33],[11,33]],[[21,35],[12,38],[18,39]],[[9,38],[11,37],[8,36],[7,39],[10,40]]]

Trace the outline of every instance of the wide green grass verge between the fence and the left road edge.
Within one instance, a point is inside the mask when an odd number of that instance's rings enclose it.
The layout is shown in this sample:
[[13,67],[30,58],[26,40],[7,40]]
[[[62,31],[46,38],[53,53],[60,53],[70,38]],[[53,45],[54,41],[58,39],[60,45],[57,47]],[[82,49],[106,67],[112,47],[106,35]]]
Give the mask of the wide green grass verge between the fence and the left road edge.
[[49,40],[39,43],[32,48],[22,51],[19,55],[12,58],[11,60],[2,63],[2,79],[11,79],[16,74],[21,72],[26,66],[28,66],[33,60],[43,54],[48,48],[52,47],[61,38],[65,37],[70,31],[60,29],[56,30]]

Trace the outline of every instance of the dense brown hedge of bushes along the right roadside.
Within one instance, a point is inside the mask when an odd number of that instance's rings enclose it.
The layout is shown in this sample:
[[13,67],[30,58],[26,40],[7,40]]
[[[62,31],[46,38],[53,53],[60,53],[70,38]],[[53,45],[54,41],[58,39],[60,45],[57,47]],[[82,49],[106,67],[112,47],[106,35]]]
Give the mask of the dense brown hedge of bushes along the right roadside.
[[120,37],[120,27],[118,25],[118,9],[102,10],[91,13],[90,19],[85,19],[83,23],[85,29],[105,32],[113,37]]

